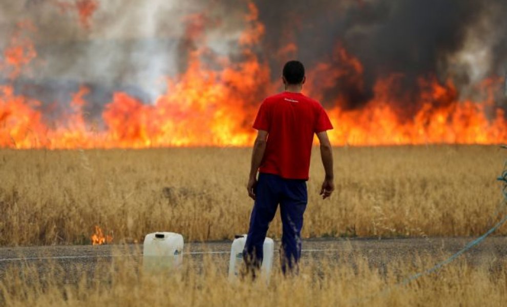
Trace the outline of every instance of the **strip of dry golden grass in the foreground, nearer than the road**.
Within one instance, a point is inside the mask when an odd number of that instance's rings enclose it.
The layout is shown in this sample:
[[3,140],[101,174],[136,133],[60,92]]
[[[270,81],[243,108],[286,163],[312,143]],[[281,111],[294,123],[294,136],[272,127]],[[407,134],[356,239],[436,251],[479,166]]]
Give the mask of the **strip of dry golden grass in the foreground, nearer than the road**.
[[[339,257],[347,259],[347,257]],[[393,263],[383,269],[367,259],[309,262],[297,278],[273,272],[262,280],[229,283],[223,268],[204,259],[198,273],[185,260],[181,270],[157,274],[139,269],[136,259],[102,263],[86,275],[82,268],[54,266],[41,271],[23,265],[0,278],[0,304],[8,306],[504,306],[507,271],[470,266],[461,260],[438,274],[405,285],[432,258]],[[69,272],[77,282],[69,281]],[[72,279],[71,278],[71,279]]]

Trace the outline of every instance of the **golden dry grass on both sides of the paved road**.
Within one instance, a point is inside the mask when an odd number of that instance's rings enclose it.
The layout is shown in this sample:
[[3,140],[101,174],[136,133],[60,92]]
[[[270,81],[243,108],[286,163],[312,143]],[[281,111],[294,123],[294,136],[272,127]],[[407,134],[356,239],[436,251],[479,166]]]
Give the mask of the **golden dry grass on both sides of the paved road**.
[[[504,213],[496,177],[505,152],[497,146],[343,147],[334,157],[336,191],[324,201],[313,152],[305,237],[474,236]],[[90,244],[95,225],[116,244],[159,230],[230,239],[247,230],[249,158],[248,148],[1,150],[0,243]],[[268,235],[280,237],[280,221]],[[297,277],[273,268],[266,284],[230,283],[225,261],[212,256],[186,256],[179,270],[152,274],[136,255],[97,260],[92,271],[79,262],[8,266],[0,271],[0,304],[447,307],[507,299],[504,259],[459,258],[406,282],[449,255],[421,251],[379,266],[351,251],[303,258]]]

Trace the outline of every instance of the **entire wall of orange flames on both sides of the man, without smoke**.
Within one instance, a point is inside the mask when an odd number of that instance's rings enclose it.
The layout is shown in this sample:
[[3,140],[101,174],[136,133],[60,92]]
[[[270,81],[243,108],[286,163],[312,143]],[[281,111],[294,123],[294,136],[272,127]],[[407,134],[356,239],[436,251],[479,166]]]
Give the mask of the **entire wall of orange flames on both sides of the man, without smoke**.
[[[82,111],[88,89],[73,96],[66,119],[48,125],[40,102],[15,95],[10,85],[0,86],[0,147],[10,148],[142,148],[160,146],[249,146],[255,138],[251,123],[262,99],[279,89],[270,78],[269,65],[254,52],[265,32],[257,20],[255,5],[244,16],[246,30],[239,37],[241,62],[216,56],[211,69],[201,60],[206,48],[190,50],[187,70],[168,78],[166,93],[152,104],[143,104],[117,92],[105,105],[105,128],[87,122]],[[188,39],[204,39],[206,16],[185,19]],[[19,37],[19,35],[18,35]],[[13,77],[27,67],[36,52],[24,38],[13,39],[4,52],[2,69]],[[297,52],[289,43],[278,54]],[[217,69],[216,66],[220,65]],[[364,91],[364,68],[360,60],[338,45],[333,56],[307,73],[305,93],[324,105],[335,127],[329,131],[334,145],[392,144],[498,144],[507,143],[503,109],[495,106],[494,93],[501,79],[491,77],[477,85],[475,99],[460,98],[451,80],[434,76],[419,78],[419,95],[404,95],[404,76],[378,79],[372,97],[360,108],[348,105],[344,93],[324,97],[323,92],[346,85]],[[342,86],[343,87],[343,86]],[[402,93],[402,94],[400,94]],[[480,98],[477,98],[480,97]],[[404,107],[405,106],[405,107]],[[411,106],[408,109],[406,106]]]

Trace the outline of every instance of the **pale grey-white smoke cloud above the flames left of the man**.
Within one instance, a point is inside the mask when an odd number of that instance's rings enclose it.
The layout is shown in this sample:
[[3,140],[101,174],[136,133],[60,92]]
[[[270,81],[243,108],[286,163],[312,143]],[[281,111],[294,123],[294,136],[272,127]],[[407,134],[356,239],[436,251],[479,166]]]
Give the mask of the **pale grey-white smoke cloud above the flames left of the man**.
[[[30,20],[29,36],[37,58],[14,81],[22,94],[46,103],[68,104],[70,95],[86,85],[88,111],[100,115],[114,91],[125,91],[153,102],[165,91],[165,80],[183,71],[188,52],[202,47],[228,54],[241,34],[246,5],[178,0],[98,1],[90,27],[79,21],[75,0],[0,0],[0,50],[9,44],[19,21]],[[62,10],[61,4],[67,5]],[[225,10],[230,18],[223,20]],[[204,21],[199,15],[205,13]],[[191,16],[191,17],[188,17]],[[204,24],[203,24],[204,23]],[[207,23],[207,24],[206,24]],[[188,27],[202,32],[196,40]],[[6,74],[0,73],[6,81]]]

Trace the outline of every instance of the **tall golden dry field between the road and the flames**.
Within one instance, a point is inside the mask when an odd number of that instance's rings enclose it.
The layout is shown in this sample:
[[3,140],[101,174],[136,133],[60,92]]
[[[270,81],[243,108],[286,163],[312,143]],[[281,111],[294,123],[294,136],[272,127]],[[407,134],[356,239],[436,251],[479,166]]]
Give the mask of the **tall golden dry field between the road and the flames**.
[[[336,191],[312,156],[303,236],[468,236],[495,221],[496,146],[335,148]],[[247,230],[248,148],[0,150],[0,245],[114,242],[174,231],[186,240]],[[502,228],[498,233],[507,233]],[[280,237],[275,218],[268,235]]]

